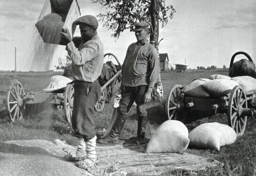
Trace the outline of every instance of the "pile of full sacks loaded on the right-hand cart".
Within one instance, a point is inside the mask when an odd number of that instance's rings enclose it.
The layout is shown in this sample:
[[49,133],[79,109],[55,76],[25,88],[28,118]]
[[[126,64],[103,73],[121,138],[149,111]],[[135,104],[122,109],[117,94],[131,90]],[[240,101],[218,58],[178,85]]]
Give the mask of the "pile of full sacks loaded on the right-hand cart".
[[229,96],[235,86],[242,86],[245,92],[256,90],[256,79],[251,76],[229,77],[213,74],[207,79],[196,79],[185,86],[181,92],[199,98],[220,98]]

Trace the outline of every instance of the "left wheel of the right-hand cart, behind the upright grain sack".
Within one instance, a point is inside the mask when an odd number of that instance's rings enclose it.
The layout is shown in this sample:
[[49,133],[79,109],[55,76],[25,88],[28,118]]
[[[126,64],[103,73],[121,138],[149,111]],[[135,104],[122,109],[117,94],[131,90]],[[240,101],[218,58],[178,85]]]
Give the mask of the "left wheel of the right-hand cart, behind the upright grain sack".
[[187,109],[184,107],[185,98],[181,95],[183,87],[176,85],[172,88],[165,103],[165,113],[169,120],[180,120],[185,122]]

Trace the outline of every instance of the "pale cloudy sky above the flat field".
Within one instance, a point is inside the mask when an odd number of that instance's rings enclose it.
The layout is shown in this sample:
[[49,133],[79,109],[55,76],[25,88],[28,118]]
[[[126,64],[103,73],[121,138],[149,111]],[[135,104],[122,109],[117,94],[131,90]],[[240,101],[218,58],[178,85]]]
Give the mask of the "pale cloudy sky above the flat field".
[[[47,0],[49,1],[49,0]],[[90,0],[77,0],[81,15],[96,16],[105,12]],[[32,30],[38,20],[45,0],[0,0],[0,70],[17,71],[26,63],[26,53]],[[232,55],[238,51],[248,53],[256,62],[256,1],[255,0],[166,0],[176,12],[166,26],[160,28],[159,53],[167,53],[169,64],[185,64],[188,68],[216,65],[229,67]],[[136,42],[134,32],[121,33],[118,40],[111,38],[112,31],[99,22],[98,35],[104,44],[104,53],[113,53],[121,64],[127,47]],[[77,28],[75,36],[80,35]],[[64,46],[59,56],[53,58],[55,69],[58,57],[67,53]],[[245,58],[238,55],[235,59]]]

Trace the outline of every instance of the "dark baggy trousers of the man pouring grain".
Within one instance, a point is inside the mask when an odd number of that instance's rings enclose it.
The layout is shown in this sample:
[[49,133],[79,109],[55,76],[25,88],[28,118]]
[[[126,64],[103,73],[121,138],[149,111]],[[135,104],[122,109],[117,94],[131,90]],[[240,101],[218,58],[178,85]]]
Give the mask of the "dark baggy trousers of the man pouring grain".
[[75,136],[87,142],[96,135],[94,104],[100,97],[100,84],[97,80],[92,83],[75,81],[74,89],[72,126]]

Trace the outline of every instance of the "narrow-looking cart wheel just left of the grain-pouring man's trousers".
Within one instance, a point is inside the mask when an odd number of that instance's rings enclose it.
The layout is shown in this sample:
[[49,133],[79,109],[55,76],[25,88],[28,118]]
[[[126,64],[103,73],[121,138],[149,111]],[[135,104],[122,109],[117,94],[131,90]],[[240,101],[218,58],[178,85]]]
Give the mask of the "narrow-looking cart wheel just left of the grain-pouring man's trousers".
[[68,123],[71,124],[74,100],[74,85],[67,84],[64,94],[64,114]]

